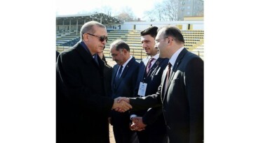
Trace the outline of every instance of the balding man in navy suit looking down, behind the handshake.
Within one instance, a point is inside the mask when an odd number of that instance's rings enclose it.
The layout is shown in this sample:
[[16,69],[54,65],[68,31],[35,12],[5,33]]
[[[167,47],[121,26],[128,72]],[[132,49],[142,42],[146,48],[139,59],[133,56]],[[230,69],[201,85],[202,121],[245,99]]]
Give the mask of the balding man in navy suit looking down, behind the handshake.
[[[132,97],[140,63],[130,56],[130,47],[122,40],[115,40],[110,45],[110,52],[117,63],[112,72],[112,98]],[[112,111],[110,117],[116,143],[133,143],[137,140],[135,131],[130,130],[129,116],[128,112]]]

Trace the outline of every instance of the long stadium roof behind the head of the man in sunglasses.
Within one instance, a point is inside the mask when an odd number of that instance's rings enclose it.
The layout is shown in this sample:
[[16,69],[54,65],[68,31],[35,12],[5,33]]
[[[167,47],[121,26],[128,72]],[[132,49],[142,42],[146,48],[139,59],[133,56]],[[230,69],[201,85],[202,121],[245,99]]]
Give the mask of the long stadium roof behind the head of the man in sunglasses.
[[97,21],[102,24],[121,24],[122,20],[119,20],[115,17],[106,15],[104,13],[90,13],[90,14],[78,14],[78,15],[57,15],[56,24],[57,25],[75,25],[75,24],[84,24],[89,21]]

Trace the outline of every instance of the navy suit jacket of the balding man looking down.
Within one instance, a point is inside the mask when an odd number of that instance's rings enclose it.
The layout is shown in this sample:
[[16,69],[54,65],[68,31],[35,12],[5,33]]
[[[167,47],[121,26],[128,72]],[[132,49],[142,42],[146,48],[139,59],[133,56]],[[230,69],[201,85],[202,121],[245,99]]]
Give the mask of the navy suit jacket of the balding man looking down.
[[[123,67],[123,73],[119,80],[114,84],[114,78],[116,77],[119,65],[113,67],[112,72],[112,98],[117,97],[133,97],[135,84],[137,80],[137,73],[139,70],[140,63],[135,61],[133,57],[130,59],[126,67]],[[113,126],[128,126],[130,123],[130,114],[128,112],[119,113],[112,111],[112,125]]]

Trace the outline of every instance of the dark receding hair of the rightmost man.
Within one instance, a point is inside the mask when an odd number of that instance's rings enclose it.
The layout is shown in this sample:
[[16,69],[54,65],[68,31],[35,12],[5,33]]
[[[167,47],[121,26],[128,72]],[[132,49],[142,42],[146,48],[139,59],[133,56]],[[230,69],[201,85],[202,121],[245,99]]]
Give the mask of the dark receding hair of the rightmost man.
[[185,43],[182,32],[177,27],[166,26],[163,27],[165,30],[165,36],[171,36],[177,43]]

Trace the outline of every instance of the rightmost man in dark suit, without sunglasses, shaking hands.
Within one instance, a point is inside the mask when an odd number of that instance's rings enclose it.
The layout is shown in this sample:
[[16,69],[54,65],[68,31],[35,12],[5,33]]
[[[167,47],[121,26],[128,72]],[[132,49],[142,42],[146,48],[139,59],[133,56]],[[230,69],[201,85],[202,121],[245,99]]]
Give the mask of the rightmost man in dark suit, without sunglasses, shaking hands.
[[134,110],[162,105],[170,142],[203,142],[203,60],[184,48],[184,38],[177,27],[160,29],[156,46],[159,57],[170,59],[159,90],[144,98],[123,100],[130,102]]

